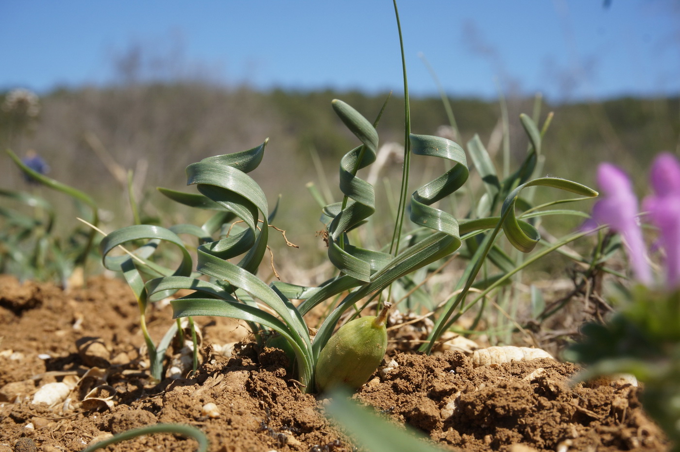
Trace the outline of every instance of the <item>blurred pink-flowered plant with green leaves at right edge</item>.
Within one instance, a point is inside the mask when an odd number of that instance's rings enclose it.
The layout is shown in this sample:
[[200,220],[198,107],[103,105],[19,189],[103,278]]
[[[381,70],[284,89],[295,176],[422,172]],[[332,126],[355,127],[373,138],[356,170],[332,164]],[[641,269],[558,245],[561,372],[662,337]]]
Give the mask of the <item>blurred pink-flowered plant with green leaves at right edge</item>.
[[[649,176],[653,194],[639,213],[628,176],[613,164],[598,167],[598,185],[605,196],[592,211],[592,222],[618,232],[633,273],[630,288],[613,296],[617,312],[607,324],[586,324],[583,341],[567,358],[587,365],[579,379],[630,373],[645,383],[645,410],[680,451],[680,164],[663,153]],[[648,252],[643,225],[656,237]],[[600,226],[602,228],[602,226]],[[653,258],[651,258],[653,257]],[[660,265],[664,271],[652,268]],[[656,277],[662,274],[663,277]]]

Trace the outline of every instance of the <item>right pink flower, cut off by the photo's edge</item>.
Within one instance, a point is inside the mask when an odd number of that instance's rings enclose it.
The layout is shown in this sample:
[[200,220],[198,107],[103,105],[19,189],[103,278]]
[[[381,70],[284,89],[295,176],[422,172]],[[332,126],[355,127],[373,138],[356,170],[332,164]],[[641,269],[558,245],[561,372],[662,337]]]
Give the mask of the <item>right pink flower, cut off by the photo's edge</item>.
[[643,207],[666,251],[666,286],[675,288],[680,285],[680,164],[664,152],[654,160],[649,178],[655,194],[645,198]]

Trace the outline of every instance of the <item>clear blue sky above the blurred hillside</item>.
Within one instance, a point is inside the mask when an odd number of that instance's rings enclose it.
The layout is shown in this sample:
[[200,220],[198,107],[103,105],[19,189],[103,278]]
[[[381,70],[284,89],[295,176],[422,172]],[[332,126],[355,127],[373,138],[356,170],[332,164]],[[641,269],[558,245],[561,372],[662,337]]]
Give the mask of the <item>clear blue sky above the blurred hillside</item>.
[[[678,0],[401,0],[411,94],[602,99],[680,93]],[[403,88],[389,0],[1,0],[0,90],[143,77],[225,86]]]

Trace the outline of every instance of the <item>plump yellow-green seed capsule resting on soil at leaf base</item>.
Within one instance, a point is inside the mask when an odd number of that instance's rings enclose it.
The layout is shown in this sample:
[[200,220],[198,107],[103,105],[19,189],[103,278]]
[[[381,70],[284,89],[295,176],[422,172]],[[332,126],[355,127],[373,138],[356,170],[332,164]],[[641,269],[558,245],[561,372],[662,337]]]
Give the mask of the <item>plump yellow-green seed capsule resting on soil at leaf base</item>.
[[367,315],[341,326],[319,353],[316,387],[328,391],[343,385],[356,389],[375,372],[387,350],[386,319],[390,304],[377,317]]

